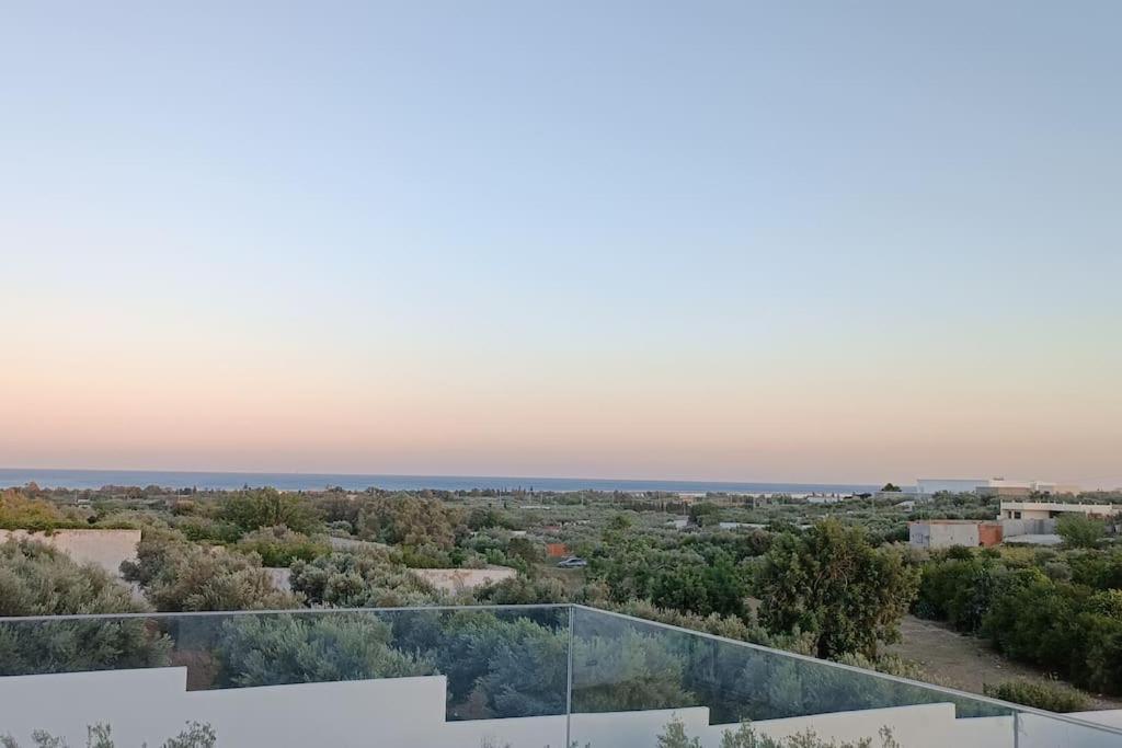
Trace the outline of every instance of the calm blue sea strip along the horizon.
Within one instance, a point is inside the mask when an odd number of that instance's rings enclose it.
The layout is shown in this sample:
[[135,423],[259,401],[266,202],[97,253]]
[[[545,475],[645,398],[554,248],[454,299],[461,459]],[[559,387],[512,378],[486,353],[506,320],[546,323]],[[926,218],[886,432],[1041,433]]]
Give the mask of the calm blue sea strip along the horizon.
[[673,491],[702,493],[811,493],[875,490],[874,486],[825,483],[736,483],[692,480],[614,480],[604,478],[512,478],[504,475],[356,475],[332,473],[168,472],[147,470],[30,470],[0,468],[0,486],[24,486],[35,481],[43,488],[101,488],[102,486],[162,486],[165,488],[233,489],[272,486],[287,490],[314,490],[341,486],[350,490],[442,489],[470,490],[531,489],[539,491]]

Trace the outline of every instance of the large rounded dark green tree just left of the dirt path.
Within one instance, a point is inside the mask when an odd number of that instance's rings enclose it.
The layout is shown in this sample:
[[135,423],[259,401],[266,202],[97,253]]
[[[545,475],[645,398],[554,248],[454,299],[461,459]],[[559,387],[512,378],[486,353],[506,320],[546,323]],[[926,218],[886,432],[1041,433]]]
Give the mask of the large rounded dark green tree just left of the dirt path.
[[801,536],[783,534],[757,576],[761,618],[773,632],[809,632],[819,657],[876,657],[899,638],[900,619],[919,570],[894,548],[874,548],[858,527],[822,521]]

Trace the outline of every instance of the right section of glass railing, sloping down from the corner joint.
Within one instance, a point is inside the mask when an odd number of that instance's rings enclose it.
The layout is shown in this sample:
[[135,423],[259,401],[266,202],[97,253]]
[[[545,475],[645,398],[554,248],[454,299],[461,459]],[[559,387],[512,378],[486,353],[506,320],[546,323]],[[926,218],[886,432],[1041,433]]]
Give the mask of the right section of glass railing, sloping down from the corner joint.
[[587,608],[573,612],[572,667],[570,740],[581,748],[723,739],[733,748],[1024,748],[1060,736],[1065,746],[1122,746],[1122,733],[1024,721],[992,700]]

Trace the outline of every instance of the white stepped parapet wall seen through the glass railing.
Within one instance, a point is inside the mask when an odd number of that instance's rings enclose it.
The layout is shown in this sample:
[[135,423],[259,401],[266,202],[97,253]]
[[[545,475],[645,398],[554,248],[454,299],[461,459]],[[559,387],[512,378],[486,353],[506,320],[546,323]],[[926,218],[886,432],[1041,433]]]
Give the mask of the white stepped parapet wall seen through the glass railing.
[[[31,732],[47,730],[85,745],[86,727],[110,724],[117,745],[159,746],[187,722],[210,724],[218,745],[230,748],[564,748],[565,730],[580,748],[655,748],[671,719],[705,748],[718,748],[736,726],[710,726],[709,710],[689,708],[571,718],[445,720],[443,676],[344,681],[187,691],[186,669],[65,673],[0,677],[0,736],[30,748]],[[1115,736],[1070,730],[1038,718],[1021,718],[1014,741],[1011,717],[956,719],[949,703],[838,712],[754,723],[774,738],[813,730],[825,740],[874,738],[889,728],[903,748],[1105,748]]]

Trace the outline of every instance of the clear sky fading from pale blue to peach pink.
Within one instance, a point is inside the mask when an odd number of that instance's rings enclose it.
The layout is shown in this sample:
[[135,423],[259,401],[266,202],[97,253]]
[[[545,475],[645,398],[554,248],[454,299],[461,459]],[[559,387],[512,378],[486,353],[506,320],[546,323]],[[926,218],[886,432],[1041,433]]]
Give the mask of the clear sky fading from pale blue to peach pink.
[[0,465],[1122,486],[1119,28],[15,3]]

